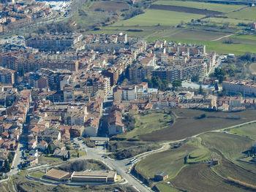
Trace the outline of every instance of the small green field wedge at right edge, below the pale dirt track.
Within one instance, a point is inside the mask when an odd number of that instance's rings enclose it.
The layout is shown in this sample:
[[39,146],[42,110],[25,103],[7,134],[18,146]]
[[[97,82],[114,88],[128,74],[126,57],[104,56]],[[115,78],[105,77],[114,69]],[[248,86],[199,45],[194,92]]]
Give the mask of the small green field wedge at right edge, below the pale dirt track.
[[[256,67],[256,64],[255,64]],[[230,128],[230,133],[256,139],[256,123],[247,124],[246,126],[238,126]]]

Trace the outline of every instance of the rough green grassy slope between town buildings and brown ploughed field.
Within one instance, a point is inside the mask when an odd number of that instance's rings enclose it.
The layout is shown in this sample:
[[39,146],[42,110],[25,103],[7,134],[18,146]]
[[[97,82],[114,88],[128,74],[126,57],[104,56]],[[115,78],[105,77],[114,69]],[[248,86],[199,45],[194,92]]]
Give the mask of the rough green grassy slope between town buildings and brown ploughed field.
[[134,115],[135,128],[117,137],[126,139],[138,138],[140,135],[151,133],[170,126],[171,116],[163,110],[147,112],[145,115]]

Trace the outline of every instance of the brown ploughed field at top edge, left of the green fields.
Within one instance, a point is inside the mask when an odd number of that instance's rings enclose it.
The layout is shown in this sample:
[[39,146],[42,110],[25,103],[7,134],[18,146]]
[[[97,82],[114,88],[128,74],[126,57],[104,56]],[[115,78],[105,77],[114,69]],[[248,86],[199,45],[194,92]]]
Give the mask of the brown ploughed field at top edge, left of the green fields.
[[102,9],[107,12],[116,12],[128,8],[129,5],[122,1],[95,1],[90,7],[90,9]]

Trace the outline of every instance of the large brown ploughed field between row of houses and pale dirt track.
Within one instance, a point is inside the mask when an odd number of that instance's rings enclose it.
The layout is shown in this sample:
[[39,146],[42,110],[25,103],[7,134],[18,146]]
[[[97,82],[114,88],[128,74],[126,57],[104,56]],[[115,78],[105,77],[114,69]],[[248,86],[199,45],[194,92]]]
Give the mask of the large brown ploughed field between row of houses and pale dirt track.
[[[246,110],[242,112],[206,112],[189,109],[172,111],[179,117],[173,125],[159,131],[153,131],[150,134],[141,135],[140,139],[151,141],[185,139],[205,131],[227,128],[255,120],[256,112],[256,110]],[[206,118],[195,119],[202,114],[206,114]]]

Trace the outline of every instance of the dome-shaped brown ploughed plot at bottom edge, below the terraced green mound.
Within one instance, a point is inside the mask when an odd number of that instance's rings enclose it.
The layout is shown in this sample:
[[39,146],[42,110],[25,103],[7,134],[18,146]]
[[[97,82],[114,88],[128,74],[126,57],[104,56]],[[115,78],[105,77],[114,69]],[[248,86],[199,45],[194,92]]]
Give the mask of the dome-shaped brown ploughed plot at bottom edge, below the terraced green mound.
[[190,192],[243,192],[243,188],[226,183],[206,164],[186,166],[171,183]]

